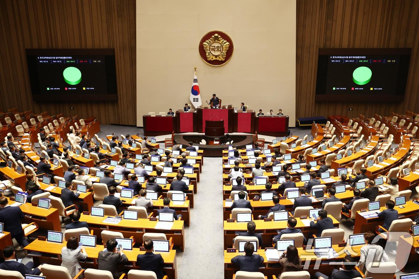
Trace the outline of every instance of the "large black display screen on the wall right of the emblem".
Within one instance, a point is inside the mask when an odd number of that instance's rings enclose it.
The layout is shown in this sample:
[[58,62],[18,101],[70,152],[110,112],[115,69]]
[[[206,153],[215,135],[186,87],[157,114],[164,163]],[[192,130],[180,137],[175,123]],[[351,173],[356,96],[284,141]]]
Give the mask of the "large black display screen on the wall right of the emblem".
[[401,101],[409,61],[410,49],[319,49],[316,100]]

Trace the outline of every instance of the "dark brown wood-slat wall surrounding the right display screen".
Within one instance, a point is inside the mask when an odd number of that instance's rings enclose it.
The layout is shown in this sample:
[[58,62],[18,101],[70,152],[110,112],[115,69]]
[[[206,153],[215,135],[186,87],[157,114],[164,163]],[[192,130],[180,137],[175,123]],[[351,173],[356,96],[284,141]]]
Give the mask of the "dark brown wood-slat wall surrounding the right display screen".
[[[418,32],[417,0],[297,0],[297,117],[419,113]],[[412,48],[404,101],[314,101],[319,48],[386,47]]]

